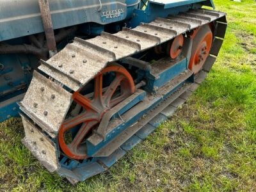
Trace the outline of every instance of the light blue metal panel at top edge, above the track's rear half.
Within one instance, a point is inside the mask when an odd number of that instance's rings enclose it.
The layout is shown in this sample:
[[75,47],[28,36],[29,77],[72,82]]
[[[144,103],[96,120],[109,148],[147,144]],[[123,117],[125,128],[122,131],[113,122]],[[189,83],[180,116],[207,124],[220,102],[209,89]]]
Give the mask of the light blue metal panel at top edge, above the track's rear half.
[[[173,8],[173,7],[177,7],[177,6],[183,6],[186,4],[193,4],[193,3],[201,3],[207,0],[149,0],[150,3],[157,3],[157,4],[163,4],[164,8]],[[209,1],[209,0],[208,0]],[[213,3],[212,0],[211,2],[211,6],[213,7]]]

